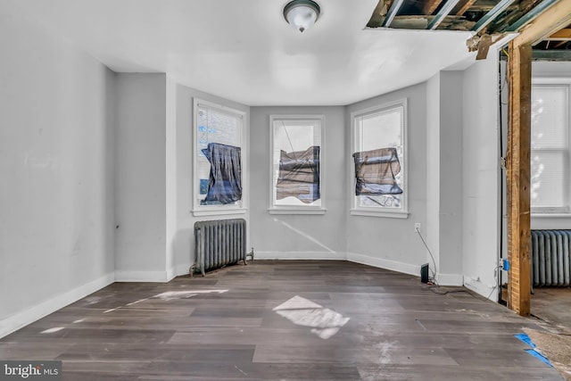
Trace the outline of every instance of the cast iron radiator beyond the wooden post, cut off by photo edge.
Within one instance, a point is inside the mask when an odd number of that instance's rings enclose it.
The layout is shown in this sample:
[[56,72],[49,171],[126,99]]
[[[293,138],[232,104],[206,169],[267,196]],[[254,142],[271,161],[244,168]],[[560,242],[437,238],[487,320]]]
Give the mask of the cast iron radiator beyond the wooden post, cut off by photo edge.
[[571,230],[532,230],[531,273],[534,287],[571,286]]

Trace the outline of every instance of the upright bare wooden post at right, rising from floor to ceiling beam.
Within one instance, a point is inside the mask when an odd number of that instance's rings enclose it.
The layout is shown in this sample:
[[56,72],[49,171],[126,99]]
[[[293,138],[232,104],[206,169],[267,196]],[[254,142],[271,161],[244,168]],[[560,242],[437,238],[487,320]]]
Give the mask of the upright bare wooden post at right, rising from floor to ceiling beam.
[[531,312],[530,151],[532,46],[509,43],[508,307]]

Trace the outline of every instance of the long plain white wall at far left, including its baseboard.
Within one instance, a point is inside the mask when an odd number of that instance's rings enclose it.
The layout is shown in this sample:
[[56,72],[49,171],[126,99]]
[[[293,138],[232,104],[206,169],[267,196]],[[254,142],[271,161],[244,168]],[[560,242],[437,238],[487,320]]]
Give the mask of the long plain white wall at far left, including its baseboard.
[[114,270],[115,75],[12,6],[0,11],[0,337]]

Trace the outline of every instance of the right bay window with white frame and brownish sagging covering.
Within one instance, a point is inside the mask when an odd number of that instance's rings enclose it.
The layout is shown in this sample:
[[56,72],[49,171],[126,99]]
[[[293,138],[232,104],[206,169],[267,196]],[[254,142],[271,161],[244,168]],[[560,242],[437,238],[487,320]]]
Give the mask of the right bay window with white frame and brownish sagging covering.
[[352,112],[352,214],[407,218],[406,100]]

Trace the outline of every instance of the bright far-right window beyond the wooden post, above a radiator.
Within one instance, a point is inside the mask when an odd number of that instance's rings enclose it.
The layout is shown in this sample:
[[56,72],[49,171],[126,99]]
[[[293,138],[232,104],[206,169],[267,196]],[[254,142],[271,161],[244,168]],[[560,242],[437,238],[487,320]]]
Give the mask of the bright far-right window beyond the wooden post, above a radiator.
[[569,212],[569,85],[532,87],[531,207]]

